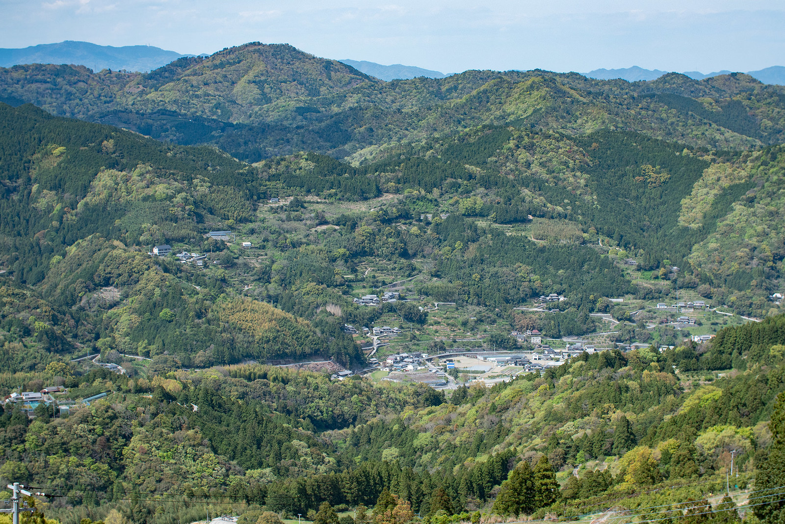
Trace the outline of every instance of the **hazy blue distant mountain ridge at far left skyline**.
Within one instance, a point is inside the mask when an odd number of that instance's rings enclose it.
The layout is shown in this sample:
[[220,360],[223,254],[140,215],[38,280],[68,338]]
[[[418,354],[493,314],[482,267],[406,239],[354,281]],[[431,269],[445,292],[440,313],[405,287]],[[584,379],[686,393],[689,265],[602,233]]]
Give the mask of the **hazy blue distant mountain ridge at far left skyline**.
[[182,57],[174,51],[153,46],[99,46],[90,42],[66,40],[55,44],[40,44],[23,49],[0,49],[0,67],[10,68],[20,64],[75,64],[93,71],[148,72]]

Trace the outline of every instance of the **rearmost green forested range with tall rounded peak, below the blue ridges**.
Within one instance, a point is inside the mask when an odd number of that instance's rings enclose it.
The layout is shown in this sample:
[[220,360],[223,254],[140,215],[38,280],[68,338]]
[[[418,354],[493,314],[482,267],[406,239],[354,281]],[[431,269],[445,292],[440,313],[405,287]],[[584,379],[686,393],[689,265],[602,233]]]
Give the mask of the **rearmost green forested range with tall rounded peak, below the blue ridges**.
[[0,100],[111,123],[239,159],[310,150],[364,158],[483,124],[585,134],[634,130],[710,148],[781,140],[783,88],[747,75],[702,81],[593,80],[548,71],[466,71],[379,82],[341,62],[247,44],[183,58],[146,75],[29,65],[0,71]]

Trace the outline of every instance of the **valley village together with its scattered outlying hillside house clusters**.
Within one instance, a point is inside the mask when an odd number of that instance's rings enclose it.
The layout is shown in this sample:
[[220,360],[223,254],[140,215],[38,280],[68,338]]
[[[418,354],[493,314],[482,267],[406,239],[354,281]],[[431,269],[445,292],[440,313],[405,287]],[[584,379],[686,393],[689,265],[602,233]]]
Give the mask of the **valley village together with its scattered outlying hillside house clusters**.
[[[269,204],[284,204],[279,198],[269,199]],[[423,217],[429,218],[429,217]],[[443,217],[444,218],[444,217]],[[250,240],[238,241],[237,234],[229,230],[203,233],[206,239],[222,242],[234,256],[253,260]],[[149,253],[156,257],[174,257],[182,264],[205,268],[208,253],[192,252],[187,246],[175,252],[168,244],[155,245]],[[244,254],[245,253],[245,254]],[[265,258],[265,255],[262,255]],[[210,266],[221,262],[212,259]],[[637,262],[632,258],[617,261],[630,277],[636,277]],[[374,268],[365,269],[365,276]],[[677,272],[678,268],[673,268]],[[361,269],[358,269],[358,273]],[[346,276],[349,278],[349,276]],[[416,280],[418,276],[407,279]],[[664,281],[663,281],[664,282]],[[714,337],[721,327],[754,319],[725,312],[694,293],[682,292],[684,299],[669,302],[649,302],[634,297],[607,297],[604,312],[591,313],[597,330],[580,337],[550,339],[537,328],[519,329],[504,321],[488,322],[487,313],[475,307],[458,306],[454,302],[427,302],[414,287],[394,283],[382,288],[349,288],[352,304],[360,308],[378,308],[378,320],[366,326],[344,324],[342,331],[356,339],[365,354],[362,368],[333,369],[331,379],[343,380],[355,375],[370,376],[395,382],[418,382],[436,389],[451,389],[460,384],[484,383],[492,385],[507,381],[524,373],[545,372],[562,365],[569,358],[586,352],[603,350],[654,348],[663,352],[684,343],[703,344]],[[253,284],[245,284],[247,291]],[[355,291],[355,292],[352,292]],[[678,290],[676,296],[679,297]],[[772,302],[779,303],[782,296],[773,294]],[[556,292],[536,297],[528,305],[514,308],[521,314],[534,317],[542,314],[560,314],[567,298]],[[414,302],[418,309],[429,315],[424,325],[404,321],[396,304]],[[506,329],[505,329],[506,328]],[[619,340],[624,330],[633,332],[631,339]],[[664,330],[664,331],[663,331]],[[670,334],[670,335],[668,335]],[[509,339],[505,347],[493,342],[495,337]],[[636,340],[636,338],[638,338]],[[110,365],[94,362],[97,365]],[[123,372],[113,365],[114,372]]]

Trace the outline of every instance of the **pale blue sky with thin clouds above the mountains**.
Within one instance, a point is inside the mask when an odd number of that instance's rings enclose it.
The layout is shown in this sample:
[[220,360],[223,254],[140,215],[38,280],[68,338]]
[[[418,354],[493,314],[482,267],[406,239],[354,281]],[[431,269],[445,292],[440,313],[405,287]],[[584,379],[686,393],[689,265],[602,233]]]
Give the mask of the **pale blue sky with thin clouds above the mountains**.
[[80,40],[467,69],[755,71],[785,65],[782,0],[0,0],[0,47]]

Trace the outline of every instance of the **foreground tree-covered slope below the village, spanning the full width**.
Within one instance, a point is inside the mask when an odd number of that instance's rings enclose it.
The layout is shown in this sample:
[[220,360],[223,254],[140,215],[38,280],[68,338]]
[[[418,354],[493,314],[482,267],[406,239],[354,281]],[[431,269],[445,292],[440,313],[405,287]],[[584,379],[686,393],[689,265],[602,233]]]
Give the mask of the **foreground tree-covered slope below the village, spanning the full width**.
[[[63,522],[110,511],[158,522],[198,515],[202,504],[315,520],[325,502],[376,504],[378,513],[385,490],[428,522],[611,509],[653,520],[683,516],[706,497],[716,512],[707,515],[721,519],[728,501],[713,493],[725,487],[731,452],[742,490],[776,487],[759,460],[781,453],[782,324],[779,316],[720,332],[710,350],[732,351],[749,368],[718,379],[715,365],[725,364],[703,357],[711,380],[677,375],[695,357],[689,347],[604,351],[447,399],[422,385],[330,382],[260,365],[153,379],[49,365],[35,376],[59,376],[71,398],[109,396],[68,417],[0,410],[0,475],[46,486],[56,500],[47,514]],[[773,360],[753,364],[761,351]],[[732,494],[726,510],[746,503],[744,491]],[[761,517],[772,509],[746,504]]]

